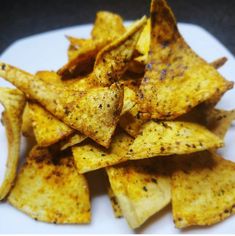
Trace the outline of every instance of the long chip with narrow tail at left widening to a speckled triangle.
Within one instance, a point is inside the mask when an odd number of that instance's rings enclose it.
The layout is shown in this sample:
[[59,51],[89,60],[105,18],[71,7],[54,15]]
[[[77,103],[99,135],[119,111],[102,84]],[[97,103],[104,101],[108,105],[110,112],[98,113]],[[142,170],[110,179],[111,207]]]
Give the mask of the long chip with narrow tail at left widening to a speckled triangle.
[[[0,63],[0,76],[73,129],[108,147],[123,106],[123,88],[96,87],[74,91],[46,83],[13,66]],[[99,121],[99,122],[97,122]]]

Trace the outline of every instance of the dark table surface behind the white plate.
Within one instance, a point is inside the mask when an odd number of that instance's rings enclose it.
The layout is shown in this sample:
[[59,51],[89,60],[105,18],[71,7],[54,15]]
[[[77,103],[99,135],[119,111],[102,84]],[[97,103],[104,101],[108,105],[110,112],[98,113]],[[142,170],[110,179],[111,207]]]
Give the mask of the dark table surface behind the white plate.
[[[125,20],[149,14],[150,0],[0,0],[0,54],[17,39],[94,21],[98,10]],[[169,0],[179,22],[202,26],[235,54],[235,0]]]

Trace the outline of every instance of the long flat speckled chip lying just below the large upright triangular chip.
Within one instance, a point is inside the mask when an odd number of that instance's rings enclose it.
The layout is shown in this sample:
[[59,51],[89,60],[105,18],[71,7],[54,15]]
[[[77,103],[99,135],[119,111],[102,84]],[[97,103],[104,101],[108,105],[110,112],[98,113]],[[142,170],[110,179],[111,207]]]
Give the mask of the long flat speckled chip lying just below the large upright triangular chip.
[[130,159],[188,154],[223,146],[223,141],[205,127],[180,121],[149,121],[129,148]]

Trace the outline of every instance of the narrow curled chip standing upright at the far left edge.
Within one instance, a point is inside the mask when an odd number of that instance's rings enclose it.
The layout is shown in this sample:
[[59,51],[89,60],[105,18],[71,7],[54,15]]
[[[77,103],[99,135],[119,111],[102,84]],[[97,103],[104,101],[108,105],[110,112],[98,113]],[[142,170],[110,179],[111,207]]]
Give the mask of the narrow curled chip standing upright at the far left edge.
[[22,125],[22,113],[25,106],[24,95],[16,89],[0,88],[0,103],[4,106],[3,123],[8,141],[8,158],[4,180],[0,186],[0,200],[11,190],[16,177]]

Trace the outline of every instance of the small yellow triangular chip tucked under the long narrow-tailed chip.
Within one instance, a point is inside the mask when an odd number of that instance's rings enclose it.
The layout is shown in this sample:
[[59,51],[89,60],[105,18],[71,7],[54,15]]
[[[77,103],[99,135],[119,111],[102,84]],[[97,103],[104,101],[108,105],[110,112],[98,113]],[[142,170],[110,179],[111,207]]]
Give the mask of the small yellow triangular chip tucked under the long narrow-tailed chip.
[[48,147],[75,132],[39,104],[29,102],[29,109],[35,139],[39,146]]

